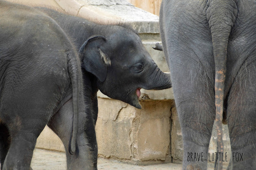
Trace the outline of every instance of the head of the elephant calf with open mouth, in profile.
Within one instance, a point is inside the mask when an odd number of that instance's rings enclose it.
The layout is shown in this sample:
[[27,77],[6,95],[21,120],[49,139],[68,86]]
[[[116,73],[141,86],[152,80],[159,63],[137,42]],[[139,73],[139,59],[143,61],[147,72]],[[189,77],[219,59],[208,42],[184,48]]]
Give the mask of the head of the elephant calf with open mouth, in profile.
[[118,31],[93,36],[82,45],[82,67],[97,77],[103,94],[141,109],[140,89],[170,88],[170,74],[158,68],[137,34],[116,27]]

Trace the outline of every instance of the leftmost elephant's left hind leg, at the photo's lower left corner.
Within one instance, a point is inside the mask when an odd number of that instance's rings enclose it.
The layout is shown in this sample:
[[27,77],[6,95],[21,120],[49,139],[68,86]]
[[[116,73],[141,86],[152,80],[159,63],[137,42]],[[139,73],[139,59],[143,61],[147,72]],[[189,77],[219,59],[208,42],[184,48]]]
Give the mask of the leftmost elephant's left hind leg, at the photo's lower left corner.
[[[2,93],[0,111],[1,121],[8,128],[11,139],[3,169],[28,170],[36,139],[52,115],[55,107],[52,103],[55,98],[44,93],[47,89],[41,87],[39,89],[31,87],[30,91],[22,91],[20,87],[14,91],[10,87],[12,86],[7,86]],[[36,93],[33,93],[34,91]]]

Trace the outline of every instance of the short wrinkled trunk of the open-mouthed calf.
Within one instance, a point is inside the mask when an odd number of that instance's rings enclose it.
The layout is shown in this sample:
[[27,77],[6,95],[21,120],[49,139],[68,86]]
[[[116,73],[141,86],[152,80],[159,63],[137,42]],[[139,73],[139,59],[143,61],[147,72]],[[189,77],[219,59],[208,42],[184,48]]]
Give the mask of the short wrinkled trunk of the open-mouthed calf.
[[146,86],[142,87],[147,90],[162,90],[172,87],[170,73],[162,72],[157,66],[153,73],[150,73]]

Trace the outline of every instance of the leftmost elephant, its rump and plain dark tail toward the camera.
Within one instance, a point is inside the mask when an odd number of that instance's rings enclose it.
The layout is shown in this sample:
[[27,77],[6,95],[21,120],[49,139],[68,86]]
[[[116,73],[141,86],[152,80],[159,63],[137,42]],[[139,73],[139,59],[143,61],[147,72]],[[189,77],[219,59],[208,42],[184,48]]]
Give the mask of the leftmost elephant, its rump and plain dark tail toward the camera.
[[[91,169],[87,134],[78,128],[93,129],[85,113],[78,53],[58,24],[41,12],[5,1],[0,11],[1,169],[30,168],[36,139],[58,111],[71,120],[56,125],[67,132],[68,168]],[[77,166],[79,152],[85,154]]]

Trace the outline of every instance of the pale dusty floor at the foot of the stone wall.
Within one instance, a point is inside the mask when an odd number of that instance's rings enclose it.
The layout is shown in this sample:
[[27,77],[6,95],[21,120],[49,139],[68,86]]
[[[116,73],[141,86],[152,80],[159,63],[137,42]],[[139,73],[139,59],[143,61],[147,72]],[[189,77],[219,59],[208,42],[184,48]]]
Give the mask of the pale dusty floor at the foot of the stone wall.
[[[66,169],[66,155],[63,152],[53,152],[43,149],[35,149],[31,167],[33,170],[64,170]],[[181,170],[181,164],[157,164],[137,166],[119,162],[116,160],[98,159],[98,170]]]

